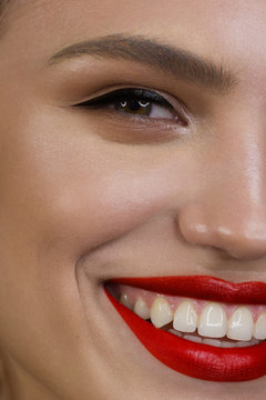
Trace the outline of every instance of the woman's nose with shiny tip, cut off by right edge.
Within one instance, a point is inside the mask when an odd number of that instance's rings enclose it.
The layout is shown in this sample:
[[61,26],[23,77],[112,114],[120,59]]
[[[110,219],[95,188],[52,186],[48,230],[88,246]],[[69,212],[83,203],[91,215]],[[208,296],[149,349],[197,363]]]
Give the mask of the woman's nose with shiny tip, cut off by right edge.
[[[237,138],[239,139],[237,141]],[[266,257],[266,143],[256,136],[219,142],[203,154],[192,201],[178,226],[193,244],[223,250],[236,259]]]

